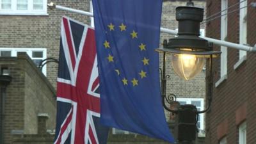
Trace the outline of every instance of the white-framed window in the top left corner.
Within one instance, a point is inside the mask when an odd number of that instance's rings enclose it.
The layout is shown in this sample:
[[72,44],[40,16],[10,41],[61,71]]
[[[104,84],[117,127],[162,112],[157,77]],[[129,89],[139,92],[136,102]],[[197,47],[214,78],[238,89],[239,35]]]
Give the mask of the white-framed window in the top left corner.
[[0,15],[47,15],[47,0],[0,0]]

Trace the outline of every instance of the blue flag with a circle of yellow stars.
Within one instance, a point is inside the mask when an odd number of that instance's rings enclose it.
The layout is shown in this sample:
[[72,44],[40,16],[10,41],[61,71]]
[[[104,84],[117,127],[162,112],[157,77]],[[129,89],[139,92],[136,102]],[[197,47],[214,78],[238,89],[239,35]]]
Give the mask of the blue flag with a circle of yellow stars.
[[161,0],[93,0],[102,124],[173,143],[159,86]]

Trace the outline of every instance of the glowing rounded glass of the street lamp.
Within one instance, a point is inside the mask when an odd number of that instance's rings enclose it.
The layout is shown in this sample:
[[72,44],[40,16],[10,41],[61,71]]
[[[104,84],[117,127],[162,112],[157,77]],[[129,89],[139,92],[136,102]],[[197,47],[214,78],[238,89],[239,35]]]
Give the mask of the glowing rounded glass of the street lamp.
[[171,54],[173,70],[185,80],[192,79],[201,72],[205,59],[204,56],[195,54]]

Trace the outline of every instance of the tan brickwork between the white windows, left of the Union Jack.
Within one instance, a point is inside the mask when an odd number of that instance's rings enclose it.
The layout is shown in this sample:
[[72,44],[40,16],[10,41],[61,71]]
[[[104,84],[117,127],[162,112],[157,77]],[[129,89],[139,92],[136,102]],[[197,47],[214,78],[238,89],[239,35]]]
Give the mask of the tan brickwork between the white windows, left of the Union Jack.
[[[49,2],[49,1],[48,1]],[[89,12],[89,1],[52,1],[61,6],[68,6]],[[0,15],[0,47],[46,48],[47,57],[57,58],[60,48],[61,17],[66,15],[90,24],[88,16],[61,10],[47,10],[47,16]],[[56,88],[58,65],[47,64],[47,79]]]

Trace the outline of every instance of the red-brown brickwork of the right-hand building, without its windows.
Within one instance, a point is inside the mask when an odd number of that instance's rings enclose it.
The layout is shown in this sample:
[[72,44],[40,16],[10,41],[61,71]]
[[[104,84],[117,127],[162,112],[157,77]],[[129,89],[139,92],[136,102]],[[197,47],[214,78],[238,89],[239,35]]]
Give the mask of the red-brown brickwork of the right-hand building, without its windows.
[[[228,0],[228,6],[232,6],[238,2],[236,0]],[[248,5],[252,2],[248,0]],[[220,8],[221,1],[207,0],[208,17],[220,12]],[[228,12],[237,8],[239,8],[238,4],[230,8]],[[256,9],[248,6],[247,40],[250,45],[256,43],[255,31],[253,31],[256,26],[255,15]],[[207,23],[207,36],[220,39],[220,18]],[[228,14],[227,41],[239,43],[239,11]],[[220,51],[220,47],[216,45],[214,49]],[[223,136],[227,137],[227,143],[238,143],[238,127],[243,120],[246,120],[247,124],[247,143],[256,143],[256,115],[253,112],[256,109],[256,57],[255,53],[247,52],[247,60],[239,68],[234,70],[234,65],[239,60],[238,54],[238,50],[228,48],[228,78],[220,86],[214,88],[212,108],[207,113],[206,143],[218,143]],[[213,66],[215,74],[214,83],[216,83],[220,78],[220,58],[213,61]]]

